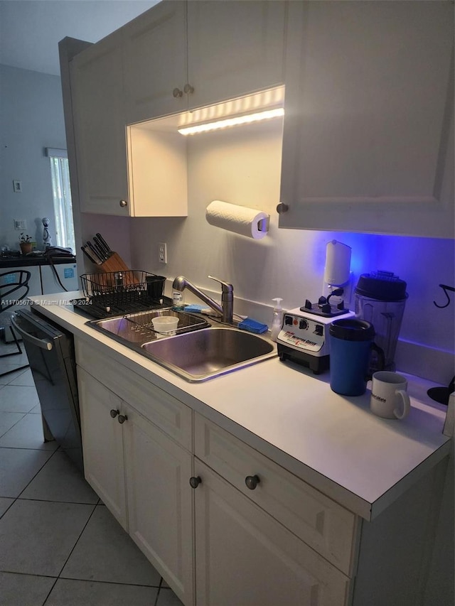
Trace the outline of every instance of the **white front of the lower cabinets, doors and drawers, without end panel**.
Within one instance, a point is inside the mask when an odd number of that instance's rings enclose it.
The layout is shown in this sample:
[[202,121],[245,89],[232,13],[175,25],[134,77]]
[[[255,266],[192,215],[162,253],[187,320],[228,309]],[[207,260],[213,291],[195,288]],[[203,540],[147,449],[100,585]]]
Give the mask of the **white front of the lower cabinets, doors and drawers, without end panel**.
[[83,342],[76,355],[87,482],[186,606],[348,603],[352,514],[198,414],[194,458],[181,401]]

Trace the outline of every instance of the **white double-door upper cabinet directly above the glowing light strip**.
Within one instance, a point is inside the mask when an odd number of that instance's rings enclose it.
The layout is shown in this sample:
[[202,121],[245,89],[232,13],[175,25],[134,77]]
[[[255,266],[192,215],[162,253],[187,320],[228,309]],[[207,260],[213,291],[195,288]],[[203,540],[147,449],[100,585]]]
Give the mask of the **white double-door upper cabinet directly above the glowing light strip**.
[[127,123],[283,82],[284,1],[163,1],[124,31]]

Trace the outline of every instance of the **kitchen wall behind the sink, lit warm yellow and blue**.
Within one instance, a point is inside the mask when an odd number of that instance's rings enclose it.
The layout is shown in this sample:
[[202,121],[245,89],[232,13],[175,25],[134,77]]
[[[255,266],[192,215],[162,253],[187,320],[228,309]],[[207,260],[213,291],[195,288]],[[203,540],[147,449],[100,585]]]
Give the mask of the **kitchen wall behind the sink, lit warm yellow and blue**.
[[[281,141],[278,122],[188,138],[188,217],[132,219],[133,266],[170,279],[183,274],[212,296],[220,291],[208,274],[230,281],[235,311],[270,323],[273,297],[283,297],[290,309],[321,294],[326,243],[338,239],[353,249],[355,283],[360,273],[377,269],[407,282],[399,367],[448,384],[454,374],[455,296],[444,309],[433,301],[444,301],[439,283],[454,286],[454,241],[278,229]],[[209,225],[205,208],[211,200],[269,212],[269,235],[253,240]],[[168,245],[167,265],[157,262],[158,242]]]

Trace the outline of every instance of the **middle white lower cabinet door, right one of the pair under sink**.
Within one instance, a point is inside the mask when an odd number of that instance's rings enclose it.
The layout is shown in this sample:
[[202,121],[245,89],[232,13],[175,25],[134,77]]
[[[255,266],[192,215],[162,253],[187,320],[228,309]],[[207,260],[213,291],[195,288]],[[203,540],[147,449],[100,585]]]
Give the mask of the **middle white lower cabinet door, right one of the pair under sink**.
[[129,534],[183,603],[191,605],[192,455],[131,408],[127,416]]

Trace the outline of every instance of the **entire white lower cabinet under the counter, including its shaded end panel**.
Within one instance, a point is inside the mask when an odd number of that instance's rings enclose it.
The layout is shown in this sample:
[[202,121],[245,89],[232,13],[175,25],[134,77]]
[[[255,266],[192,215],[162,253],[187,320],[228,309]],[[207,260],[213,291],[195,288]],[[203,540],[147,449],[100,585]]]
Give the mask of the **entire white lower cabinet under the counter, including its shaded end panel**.
[[422,602],[446,461],[367,522],[114,357],[75,350],[87,482],[185,606]]

